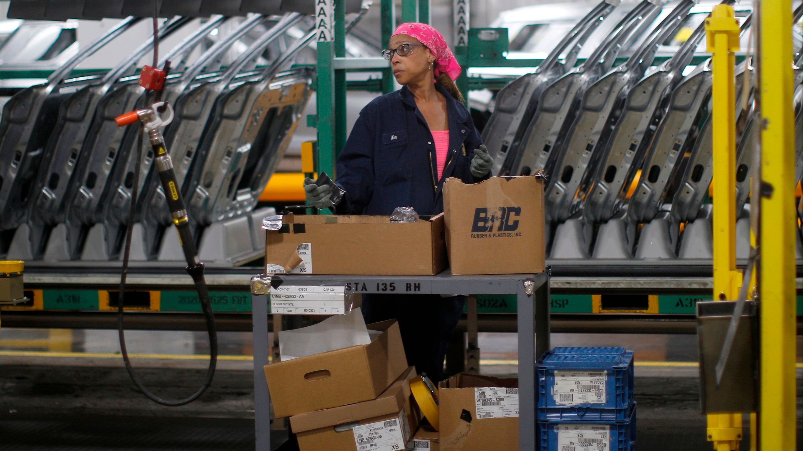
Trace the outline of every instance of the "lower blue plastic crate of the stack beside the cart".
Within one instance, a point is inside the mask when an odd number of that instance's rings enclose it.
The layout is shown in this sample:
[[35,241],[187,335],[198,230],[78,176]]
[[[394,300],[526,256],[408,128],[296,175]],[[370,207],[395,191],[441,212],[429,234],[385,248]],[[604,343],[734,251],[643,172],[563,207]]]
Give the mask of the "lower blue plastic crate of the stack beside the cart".
[[[539,421],[538,451],[579,451],[581,449],[635,451],[635,404],[630,408],[629,414],[626,421]],[[560,431],[563,433],[561,434]],[[573,437],[577,433],[581,433],[583,437]],[[563,440],[560,440],[561,435]],[[587,441],[584,443],[581,441],[583,439]],[[607,446],[601,448],[594,445],[593,441],[596,440],[607,441]],[[582,445],[590,446],[584,448]]]

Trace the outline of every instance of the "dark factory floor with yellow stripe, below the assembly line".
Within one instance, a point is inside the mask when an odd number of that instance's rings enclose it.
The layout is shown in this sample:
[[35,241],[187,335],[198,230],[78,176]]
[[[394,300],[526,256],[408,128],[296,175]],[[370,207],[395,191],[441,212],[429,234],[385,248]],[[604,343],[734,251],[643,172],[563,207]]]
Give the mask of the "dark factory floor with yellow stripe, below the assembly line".
[[[141,357],[134,365],[158,395],[188,396],[201,383],[208,354],[204,333],[128,331],[126,336],[129,351]],[[634,349],[638,449],[711,449],[699,414],[694,335],[552,337],[553,346]],[[251,335],[221,332],[219,339],[222,359],[210,390],[193,404],[165,408],[145,399],[128,379],[116,355],[116,331],[0,329],[0,449],[253,449]],[[515,335],[480,334],[480,348],[483,373],[515,374]],[[800,419],[801,391],[797,399]],[[797,449],[803,449],[800,428],[798,421]],[[274,437],[278,446],[287,433]]]

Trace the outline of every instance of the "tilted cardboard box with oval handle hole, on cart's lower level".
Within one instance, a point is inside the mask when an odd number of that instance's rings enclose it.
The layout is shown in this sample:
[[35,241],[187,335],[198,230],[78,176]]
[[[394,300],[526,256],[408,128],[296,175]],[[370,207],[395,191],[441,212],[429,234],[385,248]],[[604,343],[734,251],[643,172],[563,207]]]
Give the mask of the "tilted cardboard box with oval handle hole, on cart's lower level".
[[407,368],[395,319],[369,324],[383,331],[361,346],[265,365],[276,418],[376,399]]

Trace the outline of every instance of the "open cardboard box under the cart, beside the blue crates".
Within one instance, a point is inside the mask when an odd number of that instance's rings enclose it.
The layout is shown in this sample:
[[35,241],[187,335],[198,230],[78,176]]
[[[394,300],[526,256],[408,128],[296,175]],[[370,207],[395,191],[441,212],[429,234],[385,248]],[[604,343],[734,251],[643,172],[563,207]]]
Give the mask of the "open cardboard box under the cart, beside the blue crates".
[[519,380],[459,374],[438,385],[441,451],[517,451]]

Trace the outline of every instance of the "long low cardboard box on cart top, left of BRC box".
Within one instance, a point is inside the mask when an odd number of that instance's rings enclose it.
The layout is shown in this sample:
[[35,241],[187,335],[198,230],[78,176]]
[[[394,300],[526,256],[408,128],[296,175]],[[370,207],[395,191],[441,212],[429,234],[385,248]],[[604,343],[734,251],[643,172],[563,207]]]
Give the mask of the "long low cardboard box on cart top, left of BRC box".
[[266,274],[433,275],[447,266],[443,214],[410,223],[288,214],[282,222],[267,230]]

